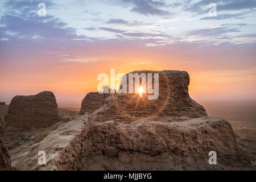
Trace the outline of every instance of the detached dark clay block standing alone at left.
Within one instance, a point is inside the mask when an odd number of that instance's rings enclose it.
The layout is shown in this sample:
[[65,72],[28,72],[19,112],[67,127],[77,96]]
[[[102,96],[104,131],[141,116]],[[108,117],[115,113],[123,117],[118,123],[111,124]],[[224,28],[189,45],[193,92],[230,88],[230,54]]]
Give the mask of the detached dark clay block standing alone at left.
[[5,117],[5,132],[46,128],[60,120],[56,98],[52,92],[15,96]]

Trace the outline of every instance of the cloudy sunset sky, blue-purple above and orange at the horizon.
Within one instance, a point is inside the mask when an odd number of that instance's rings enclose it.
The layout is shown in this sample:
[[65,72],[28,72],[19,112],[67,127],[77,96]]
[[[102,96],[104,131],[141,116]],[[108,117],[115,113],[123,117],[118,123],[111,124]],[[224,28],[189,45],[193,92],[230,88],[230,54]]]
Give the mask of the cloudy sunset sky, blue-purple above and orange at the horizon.
[[256,100],[255,10],[253,0],[2,0],[0,102],[51,90],[80,105],[112,68],[187,71],[195,100]]

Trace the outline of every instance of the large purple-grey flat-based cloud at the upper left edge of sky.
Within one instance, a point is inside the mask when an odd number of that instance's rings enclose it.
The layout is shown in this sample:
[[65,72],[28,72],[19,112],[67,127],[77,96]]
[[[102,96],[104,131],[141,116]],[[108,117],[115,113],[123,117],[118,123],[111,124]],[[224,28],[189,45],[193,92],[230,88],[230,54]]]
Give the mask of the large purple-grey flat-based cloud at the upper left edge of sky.
[[[85,39],[86,36],[78,36],[75,28],[67,26],[60,19],[54,16],[39,17],[36,13],[30,13],[30,18],[21,18],[15,15],[2,16],[0,23],[5,24],[0,27],[0,31],[9,38],[32,38],[39,36],[42,38],[61,39]],[[8,32],[15,32],[9,34]]]

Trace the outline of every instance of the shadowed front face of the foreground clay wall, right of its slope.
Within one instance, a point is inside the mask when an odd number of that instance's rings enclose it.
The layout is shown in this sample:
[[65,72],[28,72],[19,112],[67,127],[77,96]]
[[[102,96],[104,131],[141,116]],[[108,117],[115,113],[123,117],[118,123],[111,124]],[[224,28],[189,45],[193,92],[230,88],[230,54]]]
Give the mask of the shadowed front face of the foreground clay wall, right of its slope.
[[[250,169],[249,154],[238,145],[231,125],[221,118],[183,122],[93,123],[92,151],[85,170],[229,170]],[[100,154],[112,146],[118,158]],[[217,152],[210,165],[209,151]]]

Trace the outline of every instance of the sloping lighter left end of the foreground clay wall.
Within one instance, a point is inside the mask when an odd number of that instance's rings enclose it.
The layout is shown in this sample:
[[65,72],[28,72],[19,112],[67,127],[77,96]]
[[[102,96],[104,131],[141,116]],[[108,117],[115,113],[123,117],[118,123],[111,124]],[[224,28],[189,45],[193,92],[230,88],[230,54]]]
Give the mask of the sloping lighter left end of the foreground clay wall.
[[[39,143],[23,148],[22,152],[11,151],[12,165],[22,170],[77,170],[82,160],[90,154],[90,140],[87,136],[90,122],[88,115],[82,115],[60,125]],[[39,151],[46,152],[46,165],[41,161]]]

